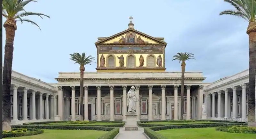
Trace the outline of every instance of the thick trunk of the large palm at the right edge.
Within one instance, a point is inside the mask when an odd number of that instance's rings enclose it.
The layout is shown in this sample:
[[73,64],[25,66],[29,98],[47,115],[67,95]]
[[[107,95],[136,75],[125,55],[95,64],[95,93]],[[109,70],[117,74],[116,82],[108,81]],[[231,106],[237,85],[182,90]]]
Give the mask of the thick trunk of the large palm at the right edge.
[[[249,32],[251,30],[251,32]],[[249,33],[248,33],[249,32]],[[256,76],[256,23],[251,22],[247,28],[249,34],[249,92],[248,92],[248,126],[255,123],[255,76]]]

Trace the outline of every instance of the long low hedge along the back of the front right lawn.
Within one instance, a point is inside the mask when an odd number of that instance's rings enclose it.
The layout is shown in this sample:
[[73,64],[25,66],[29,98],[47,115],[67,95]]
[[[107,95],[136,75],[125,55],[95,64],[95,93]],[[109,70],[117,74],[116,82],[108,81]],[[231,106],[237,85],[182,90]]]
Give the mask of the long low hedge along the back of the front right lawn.
[[168,126],[157,126],[150,127],[154,131],[173,129],[173,128],[213,128],[219,126],[235,126],[235,125],[247,125],[247,123],[213,123],[213,124],[187,124],[187,125],[168,125]]

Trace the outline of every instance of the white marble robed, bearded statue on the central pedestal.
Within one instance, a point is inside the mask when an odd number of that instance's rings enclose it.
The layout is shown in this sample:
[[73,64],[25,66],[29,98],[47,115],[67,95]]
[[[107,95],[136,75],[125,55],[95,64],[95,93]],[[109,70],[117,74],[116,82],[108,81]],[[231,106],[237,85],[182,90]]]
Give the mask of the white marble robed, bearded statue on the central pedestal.
[[138,102],[138,99],[136,97],[136,90],[135,90],[135,87],[132,86],[131,89],[127,92],[127,106],[128,106],[127,113],[136,112],[136,102]]

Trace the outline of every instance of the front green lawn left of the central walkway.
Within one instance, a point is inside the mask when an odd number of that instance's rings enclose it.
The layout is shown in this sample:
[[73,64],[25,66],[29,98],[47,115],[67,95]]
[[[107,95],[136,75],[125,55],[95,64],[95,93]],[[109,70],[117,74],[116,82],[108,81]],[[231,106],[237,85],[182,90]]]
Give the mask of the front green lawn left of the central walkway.
[[108,131],[96,130],[44,130],[43,134],[6,139],[97,139]]

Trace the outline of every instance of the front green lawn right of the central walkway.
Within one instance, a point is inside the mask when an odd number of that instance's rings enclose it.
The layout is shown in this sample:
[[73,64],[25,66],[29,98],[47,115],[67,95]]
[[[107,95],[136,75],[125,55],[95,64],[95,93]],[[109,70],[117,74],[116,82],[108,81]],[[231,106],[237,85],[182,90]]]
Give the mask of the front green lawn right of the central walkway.
[[183,128],[156,131],[168,139],[255,139],[256,134],[216,131],[215,128]]

